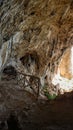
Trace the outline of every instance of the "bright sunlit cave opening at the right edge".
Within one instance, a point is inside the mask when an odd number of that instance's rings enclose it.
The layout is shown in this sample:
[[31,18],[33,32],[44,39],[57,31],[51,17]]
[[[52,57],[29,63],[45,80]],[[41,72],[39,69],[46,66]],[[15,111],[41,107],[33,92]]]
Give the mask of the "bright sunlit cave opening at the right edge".
[[58,86],[61,94],[73,91],[73,46],[61,57],[52,84]]

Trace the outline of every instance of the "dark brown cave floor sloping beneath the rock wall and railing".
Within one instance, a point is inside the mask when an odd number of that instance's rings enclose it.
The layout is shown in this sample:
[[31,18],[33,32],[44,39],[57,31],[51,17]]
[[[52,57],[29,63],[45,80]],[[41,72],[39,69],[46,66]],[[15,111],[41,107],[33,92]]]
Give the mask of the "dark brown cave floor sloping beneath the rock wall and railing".
[[[38,100],[18,88],[15,82],[2,82],[0,122],[7,122],[7,130],[19,130],[10,119],[11,115],[17,120],[20,130],[73,130],[73,93],[52,101]],[[0,130],[6,130],[3,127],[0,126]]]

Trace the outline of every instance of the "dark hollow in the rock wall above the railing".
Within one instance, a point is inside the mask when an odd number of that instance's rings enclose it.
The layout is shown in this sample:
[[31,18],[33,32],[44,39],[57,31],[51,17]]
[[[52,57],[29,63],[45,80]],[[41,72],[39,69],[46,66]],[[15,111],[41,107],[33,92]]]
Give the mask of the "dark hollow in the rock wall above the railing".
[[26,68],[27,73],[34,75],[39,72],[39,57],[35,51],[33,53],[26,53],[25,56],[20,58],[20,61]]

